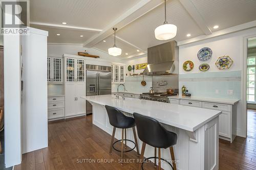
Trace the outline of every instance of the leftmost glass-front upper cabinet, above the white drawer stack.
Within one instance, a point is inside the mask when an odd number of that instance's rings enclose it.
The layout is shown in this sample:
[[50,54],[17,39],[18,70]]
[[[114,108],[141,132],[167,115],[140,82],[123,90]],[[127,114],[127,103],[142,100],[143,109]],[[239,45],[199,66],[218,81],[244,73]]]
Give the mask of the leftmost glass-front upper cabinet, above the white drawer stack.
[[47,57],[47,82],[63,83],[62,78],[62,58]]

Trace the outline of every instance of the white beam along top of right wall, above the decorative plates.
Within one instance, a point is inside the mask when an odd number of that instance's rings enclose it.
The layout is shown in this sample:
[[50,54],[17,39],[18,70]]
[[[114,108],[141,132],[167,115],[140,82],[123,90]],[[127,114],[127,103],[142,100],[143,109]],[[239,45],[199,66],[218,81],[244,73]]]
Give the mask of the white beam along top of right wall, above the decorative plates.
[[183,41],[179,41],[179,42],[177,42],[177,45],[178,46],[185,45],[185,44],[206,40],[206,39],[209,39],[209,38],[219,37],[219,36],[222,36],[222,35],[238,32],[238,31],[242,31],[242,30],[247,30],[247,29],[250,29],[250,28],[256,28],[256,20],[246,22],[246,23],[243,23],[243,24],[238,25],[238,26],[223,29],[223,30],[220,30],[220,31],[216,31],[216,32],[214,32],[210,35],[201,35],[201,36],[198,36],[198,37],[194,37],[194,38],[186,39],[186,40],[183,40]]

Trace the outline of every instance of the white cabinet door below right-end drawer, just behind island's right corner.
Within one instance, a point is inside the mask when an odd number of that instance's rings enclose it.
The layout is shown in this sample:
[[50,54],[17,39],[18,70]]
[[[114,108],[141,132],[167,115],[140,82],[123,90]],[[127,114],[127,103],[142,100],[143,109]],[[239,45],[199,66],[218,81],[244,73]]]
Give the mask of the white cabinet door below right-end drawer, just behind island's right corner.
[[227,138],[231,137],[230,121],[230,112],[222,111],[219,116],[219,135]]

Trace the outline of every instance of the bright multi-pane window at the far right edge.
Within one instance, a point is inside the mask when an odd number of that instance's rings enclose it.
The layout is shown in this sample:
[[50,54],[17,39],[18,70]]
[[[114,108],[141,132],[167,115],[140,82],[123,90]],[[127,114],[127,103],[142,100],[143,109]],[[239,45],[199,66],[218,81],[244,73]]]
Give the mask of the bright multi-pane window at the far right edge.
[[247,59],[247,102],[256,103],[255,100],[255,63],[254,57],[249,57]]

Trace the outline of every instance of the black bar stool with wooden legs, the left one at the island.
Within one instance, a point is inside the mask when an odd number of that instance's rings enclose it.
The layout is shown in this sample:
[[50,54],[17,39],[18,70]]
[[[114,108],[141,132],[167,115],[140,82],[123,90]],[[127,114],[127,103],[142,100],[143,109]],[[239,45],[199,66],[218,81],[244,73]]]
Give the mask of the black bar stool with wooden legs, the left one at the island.
[[[110,154],[112,154],[112,148],[114,148],[114,150],[116,150],[118,152],[121,152],[121,159],[123,159],[123,153],[124,152],[133,151],[135,149],[135,147],[136,147],[137,154],[139,155],[139,147],[138,147],[138,141],[137,141],[137,136],[136,136],[136,131],[135,131],[136,124],[135,124],[134,118],[133,117],[129,117],[129,116],[125,116],[120,110],[118,110],[118,109],[116,109],[114,107],[105,105],[105,108],[106,108],[106,112],[109,115],[110,125],[112,125],[114,127],[113,133],[112,133],[111,145],[110,145]],[[122,139],[121,140],[117,140],[117,141],[114,142],[116,128],[122,129]],[[132,140],[126,139],[126,129],[128,129],[128,128],[133,128],[133,135],[134,135],[135,142],[132,141]],[[123,139],[123,132],[124,132],[124,135],[125,135],[124,139]],[[118,142],[118,141],[122,142],[122,146],[121,146],[122,149],[121,149],[121,151],[117,150],[114,147],[114,144],[116,142]],[[131,149],[131,150],[124,151],[123,150],[123,141],[125,141],[125,147],[124,148],[126,148],[126,141],[133,142],[135,144],[135,147],[133,149]]]

